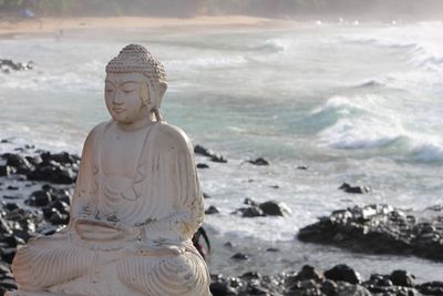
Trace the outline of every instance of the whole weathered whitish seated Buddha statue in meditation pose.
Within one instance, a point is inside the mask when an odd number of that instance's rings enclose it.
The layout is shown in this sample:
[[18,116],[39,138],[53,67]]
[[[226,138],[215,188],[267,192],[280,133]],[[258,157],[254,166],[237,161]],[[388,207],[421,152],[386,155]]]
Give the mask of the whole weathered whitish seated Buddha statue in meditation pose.
[[9,296],[206,296],[192,244],[203,197],[190,142],[159,115],[165,71],[130,44],[106,65],[112,116],[84,143],[70,222],[18,249]]

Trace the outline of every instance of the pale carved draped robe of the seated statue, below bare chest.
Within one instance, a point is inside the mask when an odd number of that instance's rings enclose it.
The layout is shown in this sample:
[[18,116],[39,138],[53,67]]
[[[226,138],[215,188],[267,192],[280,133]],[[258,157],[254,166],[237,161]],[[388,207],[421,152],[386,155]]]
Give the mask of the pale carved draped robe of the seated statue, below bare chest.
[[101,155],[111,124],[86,139],[68,227],[18,251],[16,295],[210,295],[190,241],[204,217],[190,142],[175,126],[151,123],[135,177],[115,188],[102,169],[112,160]]

